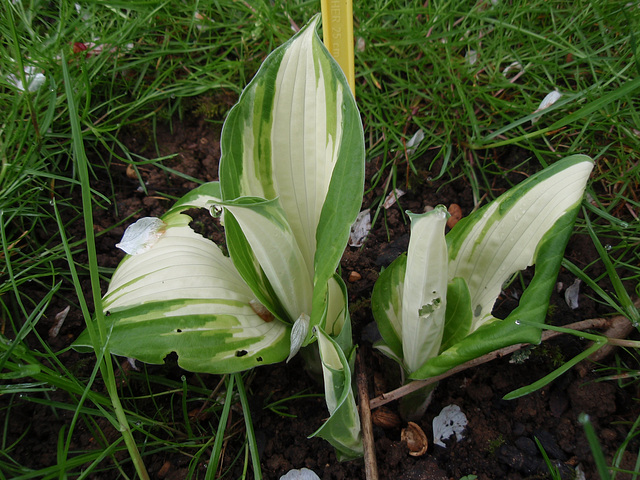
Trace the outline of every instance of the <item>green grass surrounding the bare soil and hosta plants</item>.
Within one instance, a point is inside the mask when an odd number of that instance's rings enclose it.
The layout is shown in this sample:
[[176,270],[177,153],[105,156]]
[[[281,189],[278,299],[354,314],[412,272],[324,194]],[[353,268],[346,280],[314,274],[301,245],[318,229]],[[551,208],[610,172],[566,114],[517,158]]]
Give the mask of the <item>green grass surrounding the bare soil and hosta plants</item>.
[[[54,347],[39,322],[61,305],[89,322],[99,304],[111,271],[92,253],[107,233],[93,238],[92,212],[118,208],[114,167],[139,172],[154,165],[175,173],[160,155],[158,126],[210,112],[212,128],[219,128],[227,106],[211,99],[238,95],[265,56],[291,36],[292,25],[319,11],[319,2],[88,2],[78,12],[71,2],[7,0],[1,8],[0,478],[105,471],[131,478],[131,457],[139,454],[142,464],[160,452],[188,459],[193,478],[214,478],[216,469],[230,468],[229,459],[219,462],[223,437],[241,445],[245,438],[241,425],[226,433],[218,428],[229,415],[219,395],[226,387],[235,392],[240,377],[226,379],[211,398],[210,377],[192,385],[143,369],[123,382],[110,361],[95,364],[87,355],[86,365],[68,364],[69,352]],[[567,259],[565,266],[608,311],[638,321],[631,302],[640,294],[638,7],[367,0],[354,9],[356,93],[375,167],[365,207],[380,210],[396,186],[460,179],[480,204],[513,182],[512,171],[591,155],[597,166],[576,231],[591,238],[598,257]],[[74,53],[74,44],[85,42],[103,51]],[[513,62],[522,71],[504,74]],[[9,74],[27,80],[25,67],[46,77],[35,92],[8,80]],[[554,89],[560,100],[534,114]],[[408,154],[406,141],[419,129],[425,139]],[[131,131],[144,138],[142,152],[122,142]],[[514,153],[521,159],[516,165],[508,163]],[[87,234],[70,238],[78,222]],[[87,280],[93,293],[81,288]],[[97,345],[104,333],[96,331]],[[189,419],[202,405],[207,420]],[[34,469],[18,458],[34,430],[25,424],[16,436],[10,418],[30,408],[49,409],[59,419],[49,439],[57,445],[55,467]],[[90,445],[78,443],[81,432]],[[249,448],[255,442],[235,459],[247,471]]]

